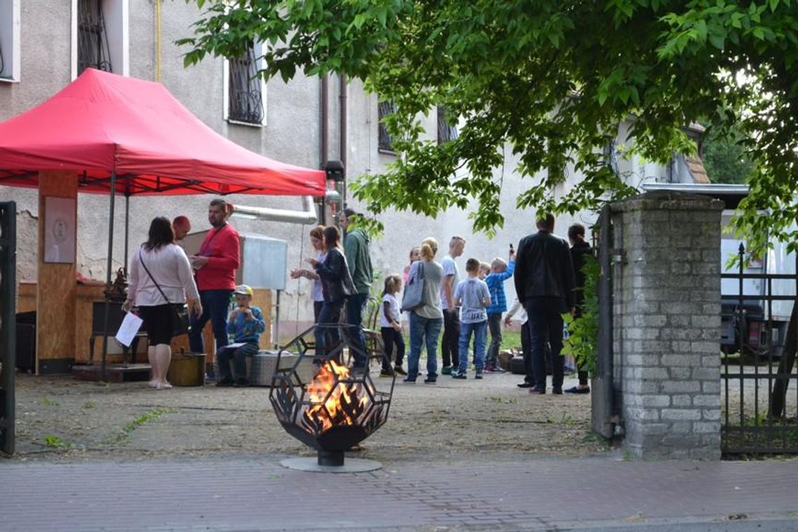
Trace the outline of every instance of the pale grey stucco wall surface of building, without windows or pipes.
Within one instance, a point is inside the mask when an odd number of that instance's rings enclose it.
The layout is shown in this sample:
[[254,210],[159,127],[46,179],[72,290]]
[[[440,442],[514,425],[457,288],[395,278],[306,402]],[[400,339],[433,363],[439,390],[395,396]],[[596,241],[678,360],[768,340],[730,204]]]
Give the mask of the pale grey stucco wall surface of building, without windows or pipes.
[[[22,82],[0,84],[0,120],[26,111],[51,97],[70,81],[71,2],[26,0],[22,2]],[[174,42],[190,33],[196,19],[196,6],[186,2],[161,4],[161,61],[160,81],[200,120],[222,135],[255,152],[290,164],[321,167],[323,160],[341,159],[339,132],[340,94],[338,79],[330,78],[329,89],[329,146],[326,157],[320,155],[321,82],[318,79],[297,77],[288,84],[271,80],[267,88],[267,125],[253,128],[228,124],[223,120],[223,61],[209,57],[199,65],[184,68],[182,54]],[[129,72],[132,77],[156,80],[156,23],[155,5],[150,0],[129,0]],[[347,175],[354,179],[367,172],[381,171],[396,156],[377,151],[377,98],[366,95],[358,82],[346,88]],[[429,131],[436,132],[436,117],[430,113]],[[76,124],[77,125],[77,124]],[[623,134],[623,132],[622,132]],[[2,164],[2,161],[0,161]],[[445,253],[449,238],[458,234],[468,240],[461,266],[468,257],[490,261],[496,256],[506,257],[508,244],[517,244],[519,238],[533,230],[531,211],[516,209],[516,198],[525,190],[529,179],[519,179],[512,152],[507,150],[504,167],[496,169],[496,179],[502,180],[501,210],[505,216],[504,227],[496,237],[472,234],[468,211],[452,209],[437,219],[428,219],[409,212],[387,212],[381,216],[386,231],[372,244],[375,268],[382,273],[400,272],[409,250],[426,236],[438,239],[440,256]],[[638,160],[619,162],[622,173],[630,175],[630,183],[639,184],[644,179],[662,180],[665,169],[642,164]],[[577,179],[569,174],[563,193]],[[36,220],[38,217],[38,191],[36,189],[0,186],[0,200],[13,199],[18,203],[19,242],[18,274],[21,279],[36,275]],[[130,249],[135,250],[145,238],[150,220],[158,215],[172,218],[188,215],[195,231],[207,229],[207,203],[210,196],[147,196],[129,200]],[[257,207],[299,209],[298,198],[231,195],[232,203]],[[361,205],[354,199],[349,204],[358,210]],[[124,210],[125,199],[117,197],[114,218],[113,258],[116,270],[124,262]],[[108,242],[109,196],[85,195],[78,198],[79,227],[77,234],[77,269],[90,278],[105,280],[105,262]],[[557,222],[556,232],[565,234],[568,225],[579,221],[591,223],[591,215],[563,216]],[[288,264],[298,266],[303,257],[310,256],[307,238],[310,227],[286,223],[269,223],[233,219],[241,232],[265,234],[289,242]],[[506,284],[508,298],[514,296],[512,282]],[[307,299],[304,280],[289,280],[282,294],[281,321],[308,321],[312,318],[312,305]]]

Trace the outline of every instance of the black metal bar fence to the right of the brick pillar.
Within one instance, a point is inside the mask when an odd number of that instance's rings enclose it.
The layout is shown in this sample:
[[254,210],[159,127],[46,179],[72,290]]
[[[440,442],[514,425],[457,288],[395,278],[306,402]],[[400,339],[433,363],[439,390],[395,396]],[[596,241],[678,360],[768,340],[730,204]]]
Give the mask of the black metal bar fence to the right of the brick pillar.
[[[722,305],[721,450],[724,455],[798,453],[796,344],[788,337],[796,314],[794,305],[788,316],[784,309],[796,301],[798,277],[745,271],[742,244],[738,253],[739,271],[721,274],[737,284],[737,294],[726,292]],[[759,290],[752,290],[753,282]]]

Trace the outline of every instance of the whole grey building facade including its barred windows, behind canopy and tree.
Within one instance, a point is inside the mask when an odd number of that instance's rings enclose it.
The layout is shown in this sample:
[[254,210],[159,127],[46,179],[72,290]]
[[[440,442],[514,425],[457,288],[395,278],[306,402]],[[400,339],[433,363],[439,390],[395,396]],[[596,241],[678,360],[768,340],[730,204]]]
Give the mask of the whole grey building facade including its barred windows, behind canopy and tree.
[[[365,93],[358,81],[338,77],[326,81],[298,75],[284,83],[279,79],[251,81],[248,73],[257,68],[259,45],[251,54],[227,60],[207,57],[199,65],[184,68],[187,51],[175,42],[192,33],[199,10],[192,2],[160,0],[0,0],[0,120],[33,108],[73,81],[87,66],[123,76],[160,81],[209,127],[254,152],[275,160],[304,167],[322,167],[327,160],[346,164],[346,179],[378,172],[397,155],[390,152],[380,131],[381,108],[376,95]],[[435,112],[426,119],[430,138],[455,135],[439,130]],[[80,127],[64,124],[65,128]],[[625,134],[621,128],[621,135]],[[622,145],[622,144],[618,144]],[[690,182],[695,180],[689,162],[677,158],[670,167],[644,164],[640,160],[616,157],[618,172],[633,186],[650,181]],[[0,161],[2,167],[2,161]],[[381,215],[385,234],[371,246],[375,270],[384,274],[401,271],[409,250],[425,236],[433,236],[445,252],[452,235],[468,240],[464,257],[490,261],[506,256],[508,244],[534,231],[534,213],[516,208],[516,198],[526,189],[527,179],[515,171],[516,160],[508,149],[502,177],[501,208],[504,227],[496,237],[472,234],[468,211],[449,210],[437,219],[406,211]],[[567,182],[555,194],[563,194],[579,180],[571,169]],[[4,187],[0,199],[13,199],[18,208],[18,278],[35,279],[35,246],[38,223],[38,191]],[[135,249],[145,239],[150,220],[158,215],[172,218],[187,215],[193,231],[207,229],[207,196],[148,196],[129,199],[129,242]],[[232,203],[253,207],[301,208],[298,198],[235,196]],[[117,202],[120,199],[117,199]],[[357,200],[346,198],[359,209]],[[118,203],[117,203],[118,204]],[[81,224],[77,229],[77,270],[87,278],[105,279],[109,198],[104,195],[78,196]],[[124,208],[117,208],[115,223],[124,227]],[[559,219],[557,231],[565,234],[570,223],[589,224],[591,213]],[[309,226],[290,223],[232,219],[239,231],[264,234],[288,242],[287,264],[299,266],[313,254]],[[123,266],[124,232],[115,232],[114,270]],[[380,287],[381,288],[381,287]],[[512,283],[508,283],[512,298]],[[288,280],[281,294],[280,320],[312,319],[309,286],[305,280]],[[287,323],[286,323],[287,322]],[[281,333],[281,336],[283,334]]]

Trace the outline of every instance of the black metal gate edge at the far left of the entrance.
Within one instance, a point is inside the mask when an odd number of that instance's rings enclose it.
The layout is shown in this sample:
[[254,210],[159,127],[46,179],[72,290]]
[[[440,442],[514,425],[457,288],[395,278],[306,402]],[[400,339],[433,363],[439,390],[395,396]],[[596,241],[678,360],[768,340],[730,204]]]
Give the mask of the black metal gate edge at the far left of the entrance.
[[17,205],[0,203],[0,451],[14,452]]

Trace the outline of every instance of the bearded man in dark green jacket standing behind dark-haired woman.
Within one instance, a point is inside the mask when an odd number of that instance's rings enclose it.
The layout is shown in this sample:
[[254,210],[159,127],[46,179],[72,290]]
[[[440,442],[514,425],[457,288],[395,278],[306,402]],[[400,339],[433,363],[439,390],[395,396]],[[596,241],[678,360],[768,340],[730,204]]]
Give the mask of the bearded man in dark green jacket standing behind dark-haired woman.
[[346,297],[346,323],[349,324],[350,347],[354,357],[355,368],[365,368],[365,338],[363,337],[363,308],[369,301],[369,291],[373,281],[371,256],[369,255],[369,235],[362,229],[352,226],[351,217],[357,215],[353,209],[346,208],[341,212],[339,221],[344,233],[344,254],[349,266],[355,294]]

